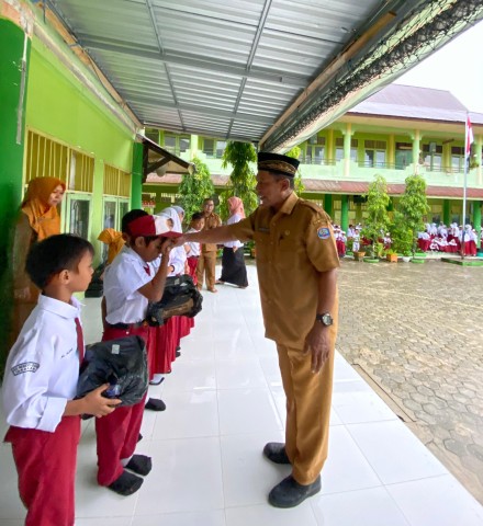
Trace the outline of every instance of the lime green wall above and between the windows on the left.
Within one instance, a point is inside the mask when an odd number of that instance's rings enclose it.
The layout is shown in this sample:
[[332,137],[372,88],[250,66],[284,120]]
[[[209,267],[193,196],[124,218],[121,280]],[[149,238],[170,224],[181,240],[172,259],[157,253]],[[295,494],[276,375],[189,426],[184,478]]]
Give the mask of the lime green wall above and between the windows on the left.
[[32,46],[30,79],[26,125],[94,157],[90,241],[99,245],[104,163],[132,171],[134,133],[37,38]]

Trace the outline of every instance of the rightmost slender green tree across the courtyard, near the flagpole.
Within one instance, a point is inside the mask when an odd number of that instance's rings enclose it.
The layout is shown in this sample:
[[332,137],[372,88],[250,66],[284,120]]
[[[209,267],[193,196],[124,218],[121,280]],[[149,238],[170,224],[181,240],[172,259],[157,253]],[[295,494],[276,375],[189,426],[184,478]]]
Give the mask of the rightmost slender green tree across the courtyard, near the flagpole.
[[413,237],[413,254],[416,251],[417,232],[424,229],[423,216],[428,214],[429,205],[426,197],[426,181],[420,175],[406,178],[406,187],[397,205],[400,220],[411,230]]

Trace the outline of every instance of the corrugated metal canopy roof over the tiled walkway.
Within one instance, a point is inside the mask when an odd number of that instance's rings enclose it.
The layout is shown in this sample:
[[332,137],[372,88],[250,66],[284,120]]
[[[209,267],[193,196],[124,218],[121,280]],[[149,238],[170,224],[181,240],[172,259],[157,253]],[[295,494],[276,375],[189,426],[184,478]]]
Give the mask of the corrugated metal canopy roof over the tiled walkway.
[[[474,16],[483,16],[478,0],[55,0],[47,4],[139,122],[217,138],[262,140],[280,150],[338,116],[334,113],[297,129],[306,119],[304,106],[333,90],[342,70],[375,56],[378,43],[396,41],[404,27],[419,31],[436,11],[464,2],[476,5]],[[464,21],[454,31],[467,25]],[[445,38],[433,42],[430,50]],[[359,87],[346,98],[345,110],[412,65],[406,61],[392,76]]]

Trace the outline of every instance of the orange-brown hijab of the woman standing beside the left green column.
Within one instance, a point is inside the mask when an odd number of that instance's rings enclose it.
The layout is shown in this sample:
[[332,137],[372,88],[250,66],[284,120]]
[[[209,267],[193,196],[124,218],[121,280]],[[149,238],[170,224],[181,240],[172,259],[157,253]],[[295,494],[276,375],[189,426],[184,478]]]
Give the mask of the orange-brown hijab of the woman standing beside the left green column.
[[65,183],[56,178],[36,178],[29,183],[21,209],[29,217],[32,229],[42,241],[49,236],[60,233],[60,217],[56,206],[49,206],[48,199],[57,186],[66,190]]

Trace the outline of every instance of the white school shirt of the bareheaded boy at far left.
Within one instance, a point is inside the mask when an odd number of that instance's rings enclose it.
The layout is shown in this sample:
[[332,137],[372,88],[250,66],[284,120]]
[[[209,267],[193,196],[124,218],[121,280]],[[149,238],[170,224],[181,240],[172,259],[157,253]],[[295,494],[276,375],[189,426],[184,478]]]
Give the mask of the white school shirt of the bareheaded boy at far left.
[[[3,377],[7,422],[54,432],[76,397],[79,352],[75,319],[80,304],[41,295],[10,351]],[[82,351],[83,353],[83,351]]]

